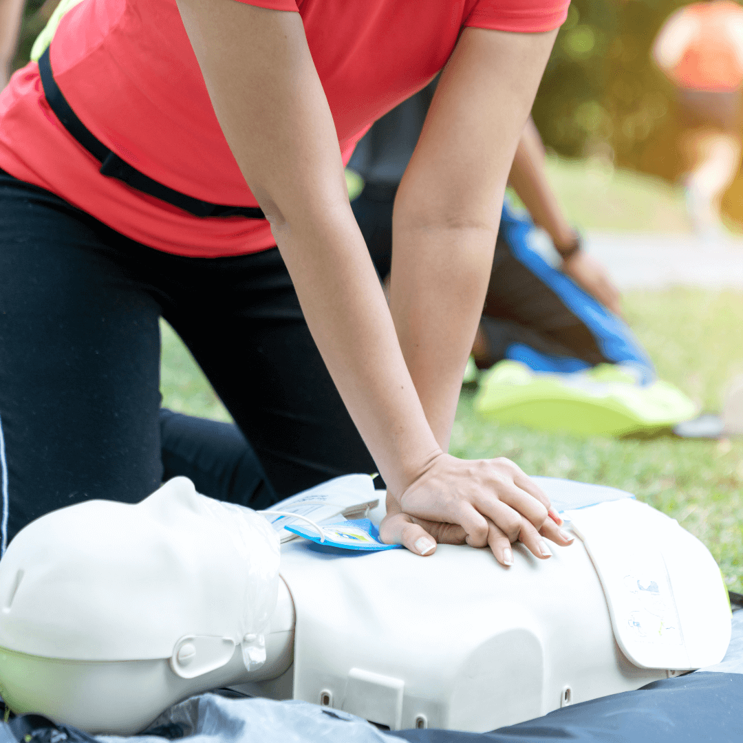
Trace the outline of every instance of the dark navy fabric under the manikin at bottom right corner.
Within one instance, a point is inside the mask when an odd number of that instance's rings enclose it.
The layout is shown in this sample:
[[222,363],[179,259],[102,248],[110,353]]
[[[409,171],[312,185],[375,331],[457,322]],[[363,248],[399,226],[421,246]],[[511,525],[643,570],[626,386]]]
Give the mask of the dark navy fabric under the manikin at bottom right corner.
[[493,733],[398,730],[411,743],[740,743],[743,674],[692,673],[601,697]]

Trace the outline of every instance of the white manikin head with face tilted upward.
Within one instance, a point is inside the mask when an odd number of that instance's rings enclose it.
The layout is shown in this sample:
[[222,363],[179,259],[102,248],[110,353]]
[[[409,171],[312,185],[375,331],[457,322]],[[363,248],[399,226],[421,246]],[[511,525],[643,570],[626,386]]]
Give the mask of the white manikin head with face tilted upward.
[[135,505],[53,511],[0,561],[0,693],[16,712],[133,733],[262,665],[278,584],[266,519],[187,478]]

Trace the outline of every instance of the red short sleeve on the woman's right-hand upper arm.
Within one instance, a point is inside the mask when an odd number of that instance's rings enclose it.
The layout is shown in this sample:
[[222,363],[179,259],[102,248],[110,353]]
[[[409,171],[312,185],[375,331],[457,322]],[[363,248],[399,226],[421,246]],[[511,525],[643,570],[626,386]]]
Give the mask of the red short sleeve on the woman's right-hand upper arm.
[[539,33],[565,22],[570,0],[476,0],[471,5],[465,26]]

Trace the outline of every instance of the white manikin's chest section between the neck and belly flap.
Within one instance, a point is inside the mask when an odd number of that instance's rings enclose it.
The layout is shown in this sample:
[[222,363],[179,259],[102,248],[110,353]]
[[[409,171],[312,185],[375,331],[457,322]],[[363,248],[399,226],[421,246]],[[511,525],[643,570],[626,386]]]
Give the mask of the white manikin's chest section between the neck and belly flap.
[[[618,649],[579,540],[546,561],[519,545],[514,553],[506,569],[467,546],[421,558],[284,545],[296,607],[293,697],[317,704],[327,692],[331,706],[363,715],[353,689],[345,701],[349,673],[360,669],[403,682],[400,727],[422,717],[484,732],[557,709],[565,686],[580,702],[666,678]],[[396,707],[385,709],[366,711],[397,720]]]

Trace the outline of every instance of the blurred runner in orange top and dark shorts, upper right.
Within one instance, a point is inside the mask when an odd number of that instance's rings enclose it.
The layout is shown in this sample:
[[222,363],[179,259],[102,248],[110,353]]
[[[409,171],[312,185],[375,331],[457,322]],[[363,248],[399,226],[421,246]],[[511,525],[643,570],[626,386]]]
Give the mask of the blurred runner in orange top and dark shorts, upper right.
[[721,200],[741,162],[743,8],[714,0],[677,10],[658,32],[652,58],[678,88],[692,225],[701,236],[718,236]]

